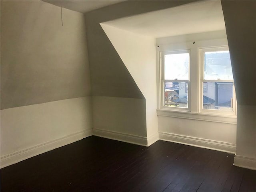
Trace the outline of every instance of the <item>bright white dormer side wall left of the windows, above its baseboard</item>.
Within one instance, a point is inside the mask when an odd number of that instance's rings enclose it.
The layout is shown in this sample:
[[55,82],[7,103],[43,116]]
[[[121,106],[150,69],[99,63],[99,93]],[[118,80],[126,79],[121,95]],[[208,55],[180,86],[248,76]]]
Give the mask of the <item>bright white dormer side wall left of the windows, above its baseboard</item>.
[[146,136],[158,131],[155,39],[101,24],[146,99]]

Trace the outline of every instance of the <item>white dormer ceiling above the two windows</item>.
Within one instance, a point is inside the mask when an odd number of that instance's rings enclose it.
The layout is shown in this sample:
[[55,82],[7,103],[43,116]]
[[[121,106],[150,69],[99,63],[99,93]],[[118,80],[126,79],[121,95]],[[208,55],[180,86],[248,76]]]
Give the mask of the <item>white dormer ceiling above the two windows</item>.
[[104,24],[154,38],[225,30],[220,1],[198,1]]

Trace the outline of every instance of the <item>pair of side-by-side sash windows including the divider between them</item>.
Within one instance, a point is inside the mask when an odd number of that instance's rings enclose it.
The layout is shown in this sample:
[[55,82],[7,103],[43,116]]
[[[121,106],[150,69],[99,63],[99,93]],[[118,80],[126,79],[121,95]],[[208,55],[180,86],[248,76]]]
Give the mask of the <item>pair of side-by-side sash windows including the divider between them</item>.
[[[236,118],[226,39],[164,44],[159,55],[159,110]],[[232,121],[232,120],[231,120]]]

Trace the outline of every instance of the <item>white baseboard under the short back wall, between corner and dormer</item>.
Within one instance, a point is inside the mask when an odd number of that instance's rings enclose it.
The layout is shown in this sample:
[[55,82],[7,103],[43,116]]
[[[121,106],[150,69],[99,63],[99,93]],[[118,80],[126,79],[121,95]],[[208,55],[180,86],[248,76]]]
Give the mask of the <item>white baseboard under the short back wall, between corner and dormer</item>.
[[108,130],[102,130],[102,129],[93,129],[92,132],[93,132],[93,135],[95,136],[132,143],[136,145],[148,146],[148,140],[146,137],[108,131]]

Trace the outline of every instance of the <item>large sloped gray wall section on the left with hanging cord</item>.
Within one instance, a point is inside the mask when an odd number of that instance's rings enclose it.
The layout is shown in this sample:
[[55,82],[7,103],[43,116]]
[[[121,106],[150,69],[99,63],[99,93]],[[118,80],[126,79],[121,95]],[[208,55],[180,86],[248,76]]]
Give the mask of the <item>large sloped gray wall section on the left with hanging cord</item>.
[[1,1],[1,109],[90,95],[84,15]]

